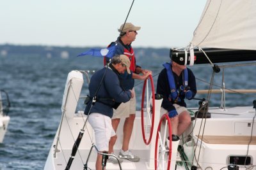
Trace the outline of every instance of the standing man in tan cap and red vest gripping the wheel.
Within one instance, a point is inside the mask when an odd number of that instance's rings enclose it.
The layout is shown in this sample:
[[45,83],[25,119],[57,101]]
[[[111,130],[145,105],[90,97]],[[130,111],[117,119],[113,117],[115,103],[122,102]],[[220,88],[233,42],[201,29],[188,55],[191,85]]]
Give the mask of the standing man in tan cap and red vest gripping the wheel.
[[[127,22],[122,24],[118,29],[120,32],[120,36],[115,42],[112,42],[109,46],[116,45],[116,55],[124,54],[131,61],[130,70],[132,72],[132,76],[124,73],[120,76],[120,81],[122,82],[122,87],[125,90],[132,90],[134,92],[134,78],[139,80],[145,80],[149,74],[152,74],[151,71],[146,69],[141,69],[140,66],[136,65],[136,59],[134,55],[134,50],[132,49],[131,43],[136,39],[137,31],[140,30],[141,27],[134,26],[133,24]],[[104,63],[106,64],[106,60],[108,58],[104,58]],[[140,75],[143,74],[143,75]],[[120,106],[114,110],[113,118],[112,118],[112,126],[113,129],[117,130],[118,124],[120,122],[120,118],[125,118],[124,122],[124,139],[122,143],[122,149],[119,152],[119,157],[122,159],[127,159],[132,162],[140,161],[140,157],[134,155],[129,150],[129,142],[131,139],[132,128],[135,120],[135,112],[136,112],[136,97],[133,97],[129,102],[122,103]],[[115,145],[116,136],[111,138],[109,141],[109,153],[113,153],[113,146]],[[122,161],[121,159],[121,161]],[[109,162],[117,163],[117,160],[114,157],[109,157]]]

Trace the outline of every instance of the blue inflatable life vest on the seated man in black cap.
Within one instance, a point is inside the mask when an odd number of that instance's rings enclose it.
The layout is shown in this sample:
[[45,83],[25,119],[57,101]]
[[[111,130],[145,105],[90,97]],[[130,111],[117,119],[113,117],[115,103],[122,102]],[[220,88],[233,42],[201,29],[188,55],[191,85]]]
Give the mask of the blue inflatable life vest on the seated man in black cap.
[[[169,87],[170,87],[170,96],[172,97],[172,101],[174,101],[174,103],[179,102],[179,91],[176,88],[175,85],[175,81],[174,81],[174,77],[173,77],[173,73],[172,73],[172,63],[164,63],[163,66],[166,68],[166,72],[167,72],[167,77],[168,77],[168,83],[169,83]],[[184,89],[186,89],[186,87],[188,87],[188,69],[184,69],[183,71],[183,86],[181,85],[179,87],[179,89],[181,91],[183,91]]]

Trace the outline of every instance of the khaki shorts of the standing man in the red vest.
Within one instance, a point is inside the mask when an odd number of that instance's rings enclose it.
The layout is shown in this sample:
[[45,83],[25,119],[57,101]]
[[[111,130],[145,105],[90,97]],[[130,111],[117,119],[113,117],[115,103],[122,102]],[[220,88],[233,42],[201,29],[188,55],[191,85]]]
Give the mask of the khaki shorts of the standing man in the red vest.
[[[132,90],[134,91],[134,88]],[[134,97],[131,98],[130,101],[127,101],[127,103],[121,103],[116,110],[114,109],[112,119],[127,118],[131,114],[135,114],[135,112],[136,112],[136,96],[134,95]]]

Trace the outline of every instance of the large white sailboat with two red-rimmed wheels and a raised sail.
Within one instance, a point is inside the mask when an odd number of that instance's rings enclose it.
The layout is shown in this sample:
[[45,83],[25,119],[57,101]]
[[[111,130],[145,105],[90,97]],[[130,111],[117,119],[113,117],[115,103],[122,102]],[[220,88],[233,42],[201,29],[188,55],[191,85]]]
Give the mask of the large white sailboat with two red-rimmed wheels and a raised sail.
[[[171,49],[170,55],[184,55],[188,65],[211,64],[212,79],[224,68],[216,63],[256,60],[255,8],[253,0],[208,0],[191,43],[186,48]],[[189,60],[191,56],[196,60]],[[45,170],[95,169],[97,146],[94,145],[93,129],[87,124],[83,111],[77,110],[77,104],[84,101],[81,89],[88,87],[84,79],[90,83],[87,71],[68,74],[61,121]],[[198,107],[189,108],[193,121],[175,150],[167,138],[171,135],[170,121],[166,115],[160,117],[162,99],[155,94],[153,81],[150,76],[143,84],[141,111],[136,113],[140,116],[134,122],[129,145],[141,158],[140,162],[103,162],[106,169],[256,169],[256,101],[252,99],[251,106],[232,108],[225,104],[225,94],[255,93],[254,89],[228,89],[223,78],[221,89],[212,89],[211,82],[209,89],[198,90],[198,94],[207,97],[200,99]],[[212,108],[211,96],[218,92],[221,93],[220,107]],[[124,122],[120,124],[122,127]],[[115,150],[120,150],[122,128],[116,134],[120,138]]]

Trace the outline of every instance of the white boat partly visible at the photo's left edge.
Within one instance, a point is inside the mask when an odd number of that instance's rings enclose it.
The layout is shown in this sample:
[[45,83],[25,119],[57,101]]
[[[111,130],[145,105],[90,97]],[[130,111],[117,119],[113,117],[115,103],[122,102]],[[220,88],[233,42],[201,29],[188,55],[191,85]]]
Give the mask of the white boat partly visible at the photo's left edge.
[[5,90],[0,90],[0,143],[3,143],[10,117],[8,116],[10,101]]

